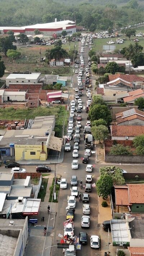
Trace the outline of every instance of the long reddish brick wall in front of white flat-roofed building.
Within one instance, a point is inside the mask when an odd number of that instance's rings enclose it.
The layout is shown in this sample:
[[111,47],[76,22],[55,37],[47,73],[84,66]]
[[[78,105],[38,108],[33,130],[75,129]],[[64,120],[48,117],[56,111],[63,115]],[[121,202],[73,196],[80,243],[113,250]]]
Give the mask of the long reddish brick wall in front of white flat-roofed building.
[[9,84],[10,89],[35,90],[42,89],[42,84]]

